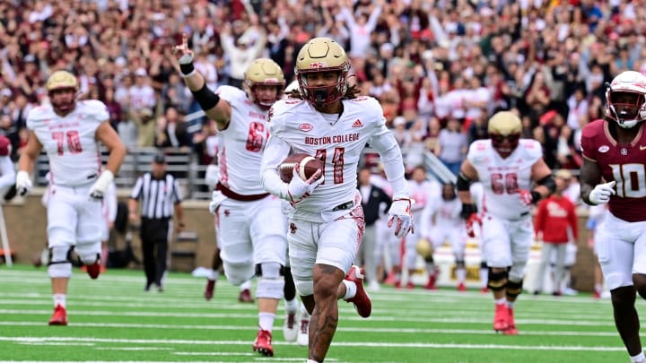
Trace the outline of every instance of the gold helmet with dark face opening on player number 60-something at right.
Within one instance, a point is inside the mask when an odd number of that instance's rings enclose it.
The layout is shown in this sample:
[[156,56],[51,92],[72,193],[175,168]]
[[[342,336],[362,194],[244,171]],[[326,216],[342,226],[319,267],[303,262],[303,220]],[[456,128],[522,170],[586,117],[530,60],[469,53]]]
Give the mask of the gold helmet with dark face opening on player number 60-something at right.
[[489,119],[487,132],[493,149],[503,157],[508,157],[519,144],[522,124],[520,118],[510,111],[500,111]]

